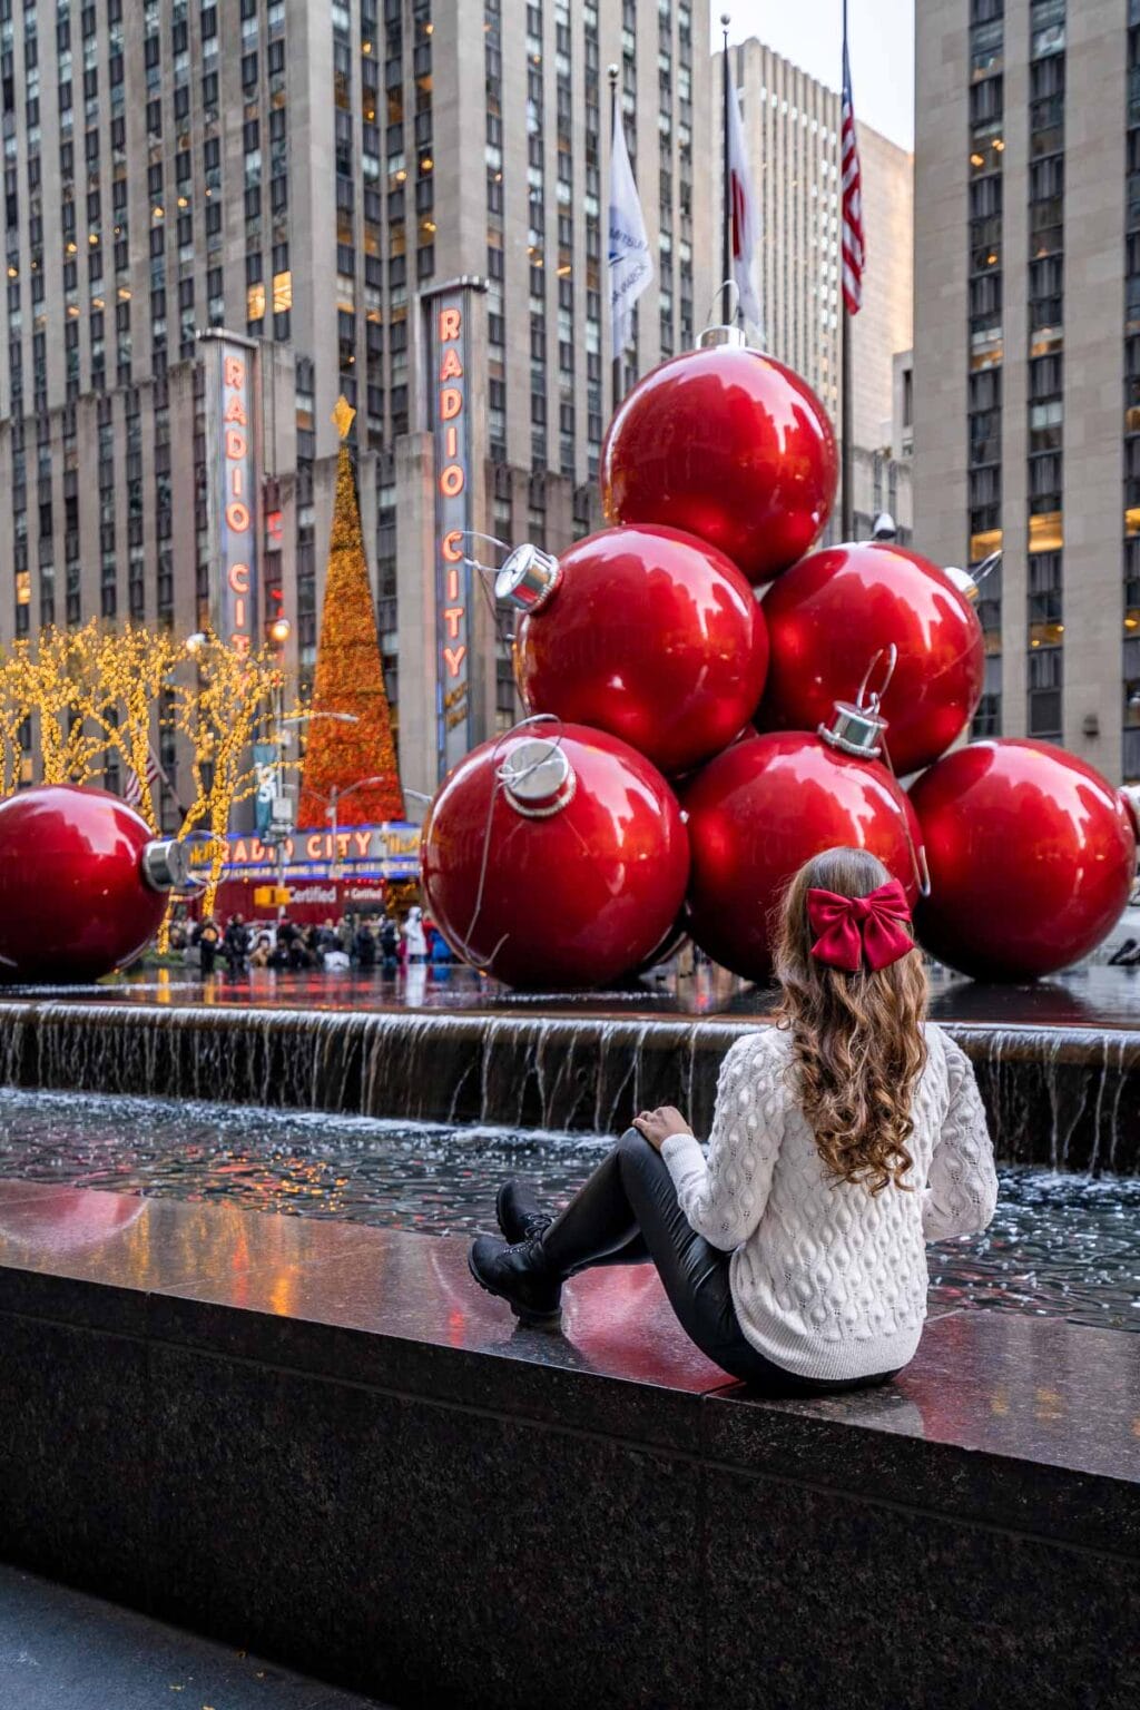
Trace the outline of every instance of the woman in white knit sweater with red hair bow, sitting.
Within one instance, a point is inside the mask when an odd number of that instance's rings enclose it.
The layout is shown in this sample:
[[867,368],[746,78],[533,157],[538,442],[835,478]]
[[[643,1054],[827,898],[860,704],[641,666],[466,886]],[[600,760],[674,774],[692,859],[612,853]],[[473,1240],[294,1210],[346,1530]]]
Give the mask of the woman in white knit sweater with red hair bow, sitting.
[[827,850],[784,894],[778,1023],[726,1053],[708,1156],[643,1112],[550,1219],[514,1182],[475,1281],[557,1325],[562,1284],[656,1264],[697,1347],[769,1395],[894,1377],[926,1317],[926,1241],[984,1229],[993,1147],[969,1060],[923,1021],[906,894],[873,855]]

